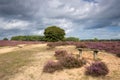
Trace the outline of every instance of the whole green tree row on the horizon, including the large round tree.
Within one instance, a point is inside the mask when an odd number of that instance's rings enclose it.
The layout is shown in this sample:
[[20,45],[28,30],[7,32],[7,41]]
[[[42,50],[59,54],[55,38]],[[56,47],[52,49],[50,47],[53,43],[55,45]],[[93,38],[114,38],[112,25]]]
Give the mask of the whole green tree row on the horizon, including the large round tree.
[[17,41],[79,41],[79,38],[76,37],[65,37],[64,29],[57,26],[50,26],[44,30],[44,36],[39,35],[28,35],[28,36],[13,36],[11,40]]

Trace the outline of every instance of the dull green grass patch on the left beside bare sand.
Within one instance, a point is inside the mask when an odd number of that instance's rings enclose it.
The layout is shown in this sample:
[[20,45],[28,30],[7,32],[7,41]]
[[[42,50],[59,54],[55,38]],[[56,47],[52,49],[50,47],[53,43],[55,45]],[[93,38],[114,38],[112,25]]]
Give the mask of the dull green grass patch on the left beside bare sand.
[[19,72],[19,68],[29,64],[33,53],[39,49],[17,50],[0,55],[0,80],[8,80],[8,77]]

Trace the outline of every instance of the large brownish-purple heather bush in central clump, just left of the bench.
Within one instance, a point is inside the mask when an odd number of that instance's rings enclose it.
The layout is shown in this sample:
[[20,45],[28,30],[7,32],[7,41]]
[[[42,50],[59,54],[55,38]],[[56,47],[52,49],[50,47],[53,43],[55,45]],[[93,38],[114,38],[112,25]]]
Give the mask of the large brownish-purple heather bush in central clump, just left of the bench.
[[81,67],[84,63],[82,60],[75,58],[74,56],[67,54],[63,58],[60,59],[60,63],[64,68],[78,68]]

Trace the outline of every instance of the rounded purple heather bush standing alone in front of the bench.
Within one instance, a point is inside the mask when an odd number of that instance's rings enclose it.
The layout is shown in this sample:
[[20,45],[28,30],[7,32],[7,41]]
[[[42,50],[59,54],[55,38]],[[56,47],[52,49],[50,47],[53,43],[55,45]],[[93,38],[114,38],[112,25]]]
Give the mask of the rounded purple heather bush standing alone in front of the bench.
[[105,76],[109,73],[109,69],[103,62],[92,63],[89,67],[86,68],[86,75],[91,75],[94,77]]

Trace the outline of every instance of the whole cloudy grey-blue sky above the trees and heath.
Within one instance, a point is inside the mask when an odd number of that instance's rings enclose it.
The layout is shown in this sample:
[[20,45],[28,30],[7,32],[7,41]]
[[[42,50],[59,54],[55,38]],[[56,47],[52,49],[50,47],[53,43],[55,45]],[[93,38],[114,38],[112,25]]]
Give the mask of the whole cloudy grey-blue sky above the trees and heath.
[[0,39],[43,35],[48,26],[66,37],[120,39],[120,0],[0,0]]

